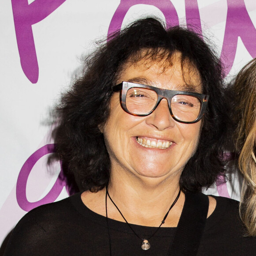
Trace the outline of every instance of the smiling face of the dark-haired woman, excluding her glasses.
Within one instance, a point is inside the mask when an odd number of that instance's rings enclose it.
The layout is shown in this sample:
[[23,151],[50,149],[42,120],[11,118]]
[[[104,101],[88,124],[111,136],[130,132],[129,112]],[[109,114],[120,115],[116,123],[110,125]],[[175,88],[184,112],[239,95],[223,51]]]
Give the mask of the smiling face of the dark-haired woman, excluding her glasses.
[[[184,66],[184,82],[178,55],[173,65],[163,69],[162,62],[141,60],[127,64],[117,83],[142,83],[168,90],[185,90],[201,93],[200,76],[196,70]],[[132,174],[140,179],[176,179],[196,151],[201,121],[195,124],[179,123],[170,115],[166,99],[153,113],[136,117],[126,113],[120,105],[119,92],[110,101],[110,116],[102,132],[111,160],[111,172]],[[139,141],[151,143],[151,147]],[[149,141],[149,142],[148,142]],[[160,142],[160,143],[159,143]],[[169,144],[160,149],[157,144]]]

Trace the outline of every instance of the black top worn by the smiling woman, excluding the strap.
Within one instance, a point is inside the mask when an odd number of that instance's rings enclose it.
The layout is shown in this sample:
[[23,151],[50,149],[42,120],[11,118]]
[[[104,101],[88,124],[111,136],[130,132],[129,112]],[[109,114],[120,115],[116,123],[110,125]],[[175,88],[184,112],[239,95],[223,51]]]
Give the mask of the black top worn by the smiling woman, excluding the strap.
[[[239,203],[224,197],[214,198],[217,205],[207,218],[198,255],[256,255],[256,239],[243,237],[245,231],[238,216]],[[131,226],[140,237],[150,237],[157,229]],[[112,255],[166,256],[176,230],[161,227],[150,239],[151,248],[143,251],[141,240],[125,222],[109,219]],[[11,234],[5,256],[18,255],[109,256],[106,218],[87,208],[81,193],[37,207],[19,221]]]

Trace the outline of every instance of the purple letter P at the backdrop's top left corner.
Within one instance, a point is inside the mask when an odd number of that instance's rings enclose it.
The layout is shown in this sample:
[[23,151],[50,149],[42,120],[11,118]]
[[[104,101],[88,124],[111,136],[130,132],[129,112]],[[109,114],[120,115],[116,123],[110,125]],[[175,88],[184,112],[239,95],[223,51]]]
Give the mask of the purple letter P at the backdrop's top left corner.
[[27,0],[11,0],[20,63],[31,83],[37,83],[39,73],[31,26],[45,19],[64,2],[65,0],[35,0],[28,4]]

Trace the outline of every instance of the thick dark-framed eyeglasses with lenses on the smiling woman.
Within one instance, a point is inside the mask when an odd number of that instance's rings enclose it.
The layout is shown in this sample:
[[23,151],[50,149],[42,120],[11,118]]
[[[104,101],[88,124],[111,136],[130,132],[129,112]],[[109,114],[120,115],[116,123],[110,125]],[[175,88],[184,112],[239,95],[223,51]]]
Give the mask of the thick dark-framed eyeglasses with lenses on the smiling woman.
[[113,91],[120,91],[120,104],[124,111],[139,117],[150,115],[165,98],[173,119],[184,124],[198,122],[203,117],[209,99],[205,94],[129,82],[114,86]]

